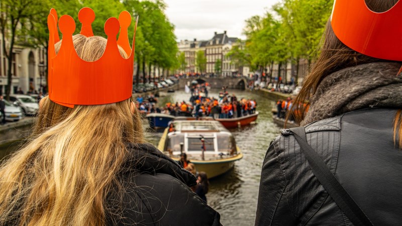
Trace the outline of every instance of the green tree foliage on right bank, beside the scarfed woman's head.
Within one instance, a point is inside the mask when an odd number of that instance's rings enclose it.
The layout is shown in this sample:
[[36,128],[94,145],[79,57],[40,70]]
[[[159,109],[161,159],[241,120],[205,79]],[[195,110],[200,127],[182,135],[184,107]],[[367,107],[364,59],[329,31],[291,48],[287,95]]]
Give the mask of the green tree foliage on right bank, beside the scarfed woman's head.
[[332,5],[333,0],[281,0],[263,17],[247,19],[243,33],[251,68],[314,60]]

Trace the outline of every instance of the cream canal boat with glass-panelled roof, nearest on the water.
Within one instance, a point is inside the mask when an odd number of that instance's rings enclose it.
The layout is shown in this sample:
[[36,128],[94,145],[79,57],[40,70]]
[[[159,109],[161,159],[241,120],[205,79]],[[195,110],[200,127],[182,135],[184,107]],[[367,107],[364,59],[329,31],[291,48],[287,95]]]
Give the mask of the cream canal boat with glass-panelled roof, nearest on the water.
[[158,149],[179,161],[182,153],[198,172],[208,178],[217,177],[234,167],[243,158],[233,135],[218,121],[173,121],[173,130],[166,128]]

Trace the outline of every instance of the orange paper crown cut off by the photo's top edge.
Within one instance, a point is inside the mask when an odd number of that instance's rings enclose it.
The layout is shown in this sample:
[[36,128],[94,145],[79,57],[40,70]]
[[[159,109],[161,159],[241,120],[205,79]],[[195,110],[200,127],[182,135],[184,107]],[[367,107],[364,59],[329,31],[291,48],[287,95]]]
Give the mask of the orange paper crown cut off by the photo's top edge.
[[402,61],[402,1],[375,13],[364,0],[335,0],[332,29],[338,39],[361,54]]

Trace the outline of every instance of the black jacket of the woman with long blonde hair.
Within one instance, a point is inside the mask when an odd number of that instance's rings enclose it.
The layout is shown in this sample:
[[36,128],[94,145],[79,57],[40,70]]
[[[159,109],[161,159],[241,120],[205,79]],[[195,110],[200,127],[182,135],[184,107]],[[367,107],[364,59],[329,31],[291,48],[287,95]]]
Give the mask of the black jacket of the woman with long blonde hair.
[[108,225],[221,225],[220,215],[188,186],[195,177],[151,145],[130,144],[123,191],[107,199]]

